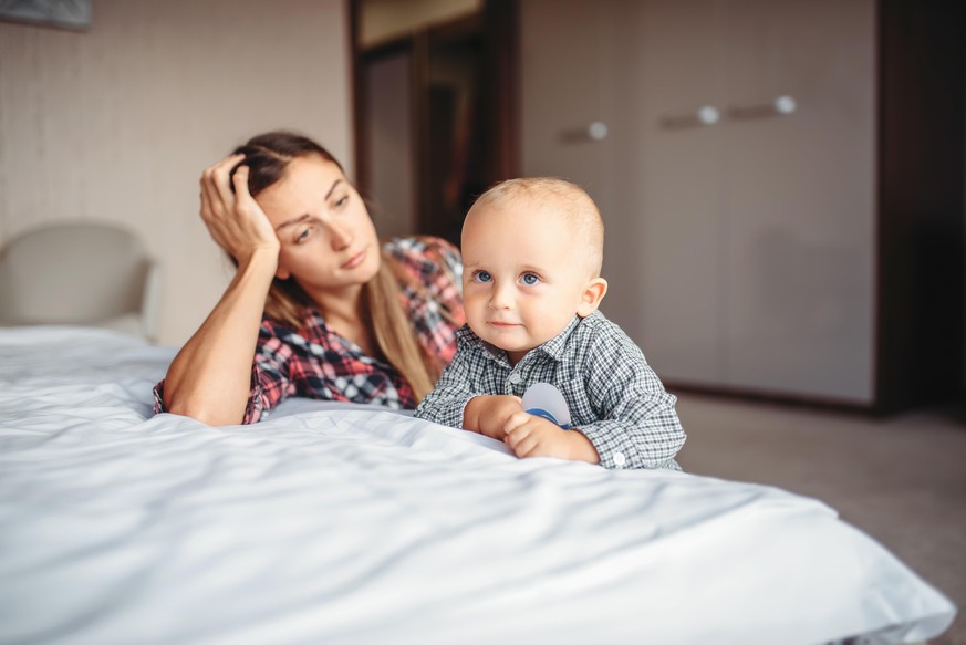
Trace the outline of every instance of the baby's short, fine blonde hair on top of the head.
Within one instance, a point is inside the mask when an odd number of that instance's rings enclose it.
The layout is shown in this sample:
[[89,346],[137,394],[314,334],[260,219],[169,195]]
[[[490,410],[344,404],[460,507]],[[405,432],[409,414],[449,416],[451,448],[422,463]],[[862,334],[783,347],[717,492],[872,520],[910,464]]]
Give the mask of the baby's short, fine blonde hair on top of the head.
[[574,239],[586,251],[591,278],[599,278],[604,261],[604,221],[596,204],[586,191],[558,177],[521,177],[494,185],[480,195],[467,212],[486,208],[505,209],[511,204],[550,209],[570,225]]

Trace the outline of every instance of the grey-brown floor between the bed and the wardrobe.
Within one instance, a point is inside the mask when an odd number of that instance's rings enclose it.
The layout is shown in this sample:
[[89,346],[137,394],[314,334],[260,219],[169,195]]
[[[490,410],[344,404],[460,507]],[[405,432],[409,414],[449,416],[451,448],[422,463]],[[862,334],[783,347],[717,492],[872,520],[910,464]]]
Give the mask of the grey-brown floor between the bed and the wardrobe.
[[816,497],[959,607],[966,645],[966,405],[874,418],[682,394],[685,470]]

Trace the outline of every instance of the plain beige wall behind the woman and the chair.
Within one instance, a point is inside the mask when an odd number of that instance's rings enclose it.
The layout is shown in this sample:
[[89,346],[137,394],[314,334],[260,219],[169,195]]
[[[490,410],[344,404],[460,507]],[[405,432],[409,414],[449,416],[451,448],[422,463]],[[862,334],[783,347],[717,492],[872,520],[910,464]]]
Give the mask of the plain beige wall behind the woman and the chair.
[[198,177],[287,127],[354,167],[344,0],[97,0],[73,32],[0,23],[0,245],[62,219],[124,223],[165,274],[162,343],[201,323],[231,269]]

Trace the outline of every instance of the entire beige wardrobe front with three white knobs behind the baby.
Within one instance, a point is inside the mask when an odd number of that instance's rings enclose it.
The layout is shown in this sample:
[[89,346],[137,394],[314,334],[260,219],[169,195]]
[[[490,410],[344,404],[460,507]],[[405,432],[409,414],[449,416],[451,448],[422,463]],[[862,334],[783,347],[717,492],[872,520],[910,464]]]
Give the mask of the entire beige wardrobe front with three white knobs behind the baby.
[[662,378],[871,404],[874,0],[521,11],[524,173],[598,200],[602,309]]

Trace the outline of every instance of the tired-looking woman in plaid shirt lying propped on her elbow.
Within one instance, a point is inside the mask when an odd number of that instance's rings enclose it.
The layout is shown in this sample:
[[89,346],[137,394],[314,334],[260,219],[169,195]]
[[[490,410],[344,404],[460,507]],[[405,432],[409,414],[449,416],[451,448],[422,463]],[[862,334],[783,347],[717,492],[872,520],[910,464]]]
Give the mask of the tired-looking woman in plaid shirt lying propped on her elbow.
[[435,238],[381,245],[329,152],[259,135],[201,176],[235,279],[155,388],[156,412],[253,423],[289,396],[414,408],[456,351],[461,264]]

